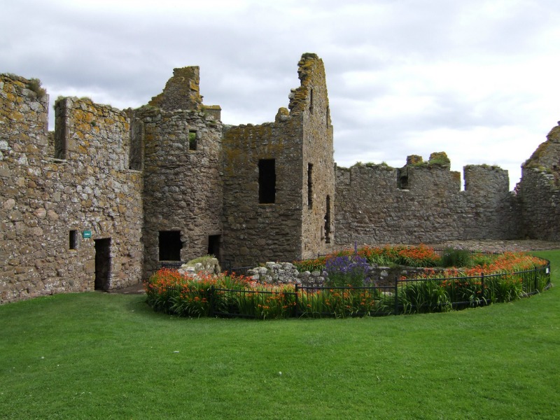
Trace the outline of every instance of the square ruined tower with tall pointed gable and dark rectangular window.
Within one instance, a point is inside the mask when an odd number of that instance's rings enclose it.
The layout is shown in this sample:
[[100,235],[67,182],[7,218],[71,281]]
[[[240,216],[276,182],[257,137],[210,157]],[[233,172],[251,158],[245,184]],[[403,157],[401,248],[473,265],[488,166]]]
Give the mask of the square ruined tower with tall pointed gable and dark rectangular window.
[[223,258],[232,267],[326,253],[334,242],[335,163],[323,61],[304,54],[301,85],[274,123],[225,127]]

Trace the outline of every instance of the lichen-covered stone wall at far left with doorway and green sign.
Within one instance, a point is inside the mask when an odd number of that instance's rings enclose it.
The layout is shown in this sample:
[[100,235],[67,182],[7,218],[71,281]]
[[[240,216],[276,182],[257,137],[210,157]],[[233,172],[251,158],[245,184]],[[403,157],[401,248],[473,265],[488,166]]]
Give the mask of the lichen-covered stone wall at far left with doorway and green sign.
[[62,99],[50,145],[48,96],[30,85],[0,78],[0,302],[138,283],[142,177],[127,169],[125,114]]

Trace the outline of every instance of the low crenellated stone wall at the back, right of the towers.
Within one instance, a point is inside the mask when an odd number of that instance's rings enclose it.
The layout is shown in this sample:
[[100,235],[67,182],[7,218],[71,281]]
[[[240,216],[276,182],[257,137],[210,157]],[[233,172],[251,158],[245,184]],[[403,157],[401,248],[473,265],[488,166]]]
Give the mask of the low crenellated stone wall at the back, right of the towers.
[[447,165],[337,168],[337,247],[513,239],[519,216],[507,182],[507,171],[484,165],[465,167],[464,191]]

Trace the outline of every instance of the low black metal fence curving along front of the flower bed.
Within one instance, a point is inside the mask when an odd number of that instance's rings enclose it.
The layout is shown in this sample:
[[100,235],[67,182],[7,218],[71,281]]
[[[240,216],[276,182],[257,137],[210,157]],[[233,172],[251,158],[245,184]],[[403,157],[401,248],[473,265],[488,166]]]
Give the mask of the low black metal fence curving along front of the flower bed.
[[[187,315],[245,318],[384,316],[448,311],[509,302],[550,283],[550,264],[520,272],[398,279],[370,287],[289,286],[234,290],[211,287],[202,311]],[[198,292],[200,293],[200,291]]]

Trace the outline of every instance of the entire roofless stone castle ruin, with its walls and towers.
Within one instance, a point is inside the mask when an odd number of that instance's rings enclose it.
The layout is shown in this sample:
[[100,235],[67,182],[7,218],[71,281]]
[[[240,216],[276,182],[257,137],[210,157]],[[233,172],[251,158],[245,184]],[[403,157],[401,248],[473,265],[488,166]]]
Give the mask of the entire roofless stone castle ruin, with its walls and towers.
[[139,109],[48,95],[0,77],[0,303],[140,283],[162,262],[225,267],[313,258],[358,244],[560,240],[560,127],[522,167],[449,170],[444,153],[336,167],[323,62],[272,123],[224,125],[199,68],[175,69]]

